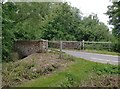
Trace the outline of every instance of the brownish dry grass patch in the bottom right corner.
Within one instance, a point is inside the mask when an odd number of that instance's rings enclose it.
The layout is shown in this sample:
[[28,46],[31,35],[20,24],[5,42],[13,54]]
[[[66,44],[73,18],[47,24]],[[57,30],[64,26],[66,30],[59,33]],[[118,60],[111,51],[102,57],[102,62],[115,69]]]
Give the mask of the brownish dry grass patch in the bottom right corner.
[[89,78],[83,80],[80,87],[120,87],[119,75],[116,74],[90,74]]

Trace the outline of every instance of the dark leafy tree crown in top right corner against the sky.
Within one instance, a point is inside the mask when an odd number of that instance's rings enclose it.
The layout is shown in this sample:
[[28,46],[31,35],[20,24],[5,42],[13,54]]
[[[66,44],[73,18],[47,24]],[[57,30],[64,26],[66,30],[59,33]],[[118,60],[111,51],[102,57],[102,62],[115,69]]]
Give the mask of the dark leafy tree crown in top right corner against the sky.
[[109,15],[109,23],[114,26],[112,32],[116,37],[120,36],[120,1],[112,2],[111,6],[108,6],[106,13]]

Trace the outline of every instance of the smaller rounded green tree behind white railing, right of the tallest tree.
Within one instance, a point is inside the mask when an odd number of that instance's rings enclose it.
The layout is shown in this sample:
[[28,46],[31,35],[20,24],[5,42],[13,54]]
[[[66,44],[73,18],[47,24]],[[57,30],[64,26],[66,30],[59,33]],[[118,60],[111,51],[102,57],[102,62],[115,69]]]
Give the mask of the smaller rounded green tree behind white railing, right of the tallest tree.
[[96,14],[83,17],[79,24],[79,30],[77,39],[86,41],[108,41],[109,40],[109,29],[108,27],[99,22]]

